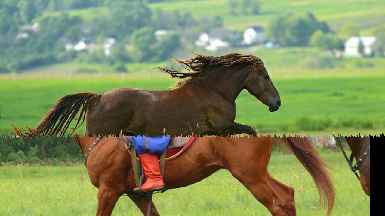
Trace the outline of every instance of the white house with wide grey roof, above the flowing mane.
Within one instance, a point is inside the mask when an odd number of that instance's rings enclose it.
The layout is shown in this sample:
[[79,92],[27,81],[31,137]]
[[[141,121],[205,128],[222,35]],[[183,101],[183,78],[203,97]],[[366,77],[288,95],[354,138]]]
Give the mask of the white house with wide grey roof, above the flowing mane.
[[238,37],[239,33],[234,29],[215,28],[209,32],[203,32],[198,36],[195,45],[204,47],[205,50],[217,51],[223,48],[229,48],[230,43],[224,38],[232,39]]

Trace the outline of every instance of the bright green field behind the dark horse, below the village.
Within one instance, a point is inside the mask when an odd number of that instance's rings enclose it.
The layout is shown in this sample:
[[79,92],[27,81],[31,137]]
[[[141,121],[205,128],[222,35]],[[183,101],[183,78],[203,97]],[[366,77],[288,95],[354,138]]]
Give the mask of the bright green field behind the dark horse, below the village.
[[[267,107],[243,91],[236,100],[236,122],[256,126],[259,133],[369,133],[385,128],[385,73],[380,68],[334,70],[272,70],[271,76],[281,96],[280,110]],[[0,77],[0,131],[13,134],[12,124],[35,128],[55,101],[64,95],[132,87],[167,90],[174,79],[153,72],[121,74],[20,75]],[[77,130],[84,133],[84,125]]]

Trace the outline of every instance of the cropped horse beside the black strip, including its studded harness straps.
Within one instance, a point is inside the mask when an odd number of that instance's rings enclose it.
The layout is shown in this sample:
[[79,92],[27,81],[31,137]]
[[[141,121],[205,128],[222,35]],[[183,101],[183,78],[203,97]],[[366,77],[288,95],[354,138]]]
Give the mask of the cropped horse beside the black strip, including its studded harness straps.
[[[358,175],[356,171],[358,170],[360,173],[360,177],[358,177],[358,179],[360,180],[361,187],[363,191],[370,196],[370,136],[346,136],[345,140],[348,143],[350,150],[352,150],[352,156],[354,156],[357,161],[356,165],[353,166],[353,158],[351,157],[351,159],[348,160],[343,148],[341,148],[341,150],[343,151],[349,166],[357,177]],[[341,146],[338,138],[336,138],[336,141]]]

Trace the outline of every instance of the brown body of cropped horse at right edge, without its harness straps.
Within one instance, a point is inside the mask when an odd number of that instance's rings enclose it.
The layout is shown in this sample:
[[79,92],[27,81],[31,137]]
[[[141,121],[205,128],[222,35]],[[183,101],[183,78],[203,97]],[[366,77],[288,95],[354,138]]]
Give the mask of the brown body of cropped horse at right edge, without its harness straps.
[[[345,139],[350,150],[352,150],[355,160],[359,161],[370,145],[370,136],[346,136]],[[362,160],[362,164],[358,166],[358,172],[360,173],[359,179],[361,187],[363,191],[370,196],[370,152],[367,153],[367,156]]]

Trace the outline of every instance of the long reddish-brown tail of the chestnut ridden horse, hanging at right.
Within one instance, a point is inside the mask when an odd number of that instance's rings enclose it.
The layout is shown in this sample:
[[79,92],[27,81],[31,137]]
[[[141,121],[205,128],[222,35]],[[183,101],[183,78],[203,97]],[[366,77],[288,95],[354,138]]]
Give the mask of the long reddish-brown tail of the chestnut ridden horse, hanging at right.
[[318,155],[309,138],[290,136],[284,138],[284,143],[310,173],[320,194],[321,205],[328,207],[327,215],[329,215],[335,203],[335,188],[326,169],[330,167]]

